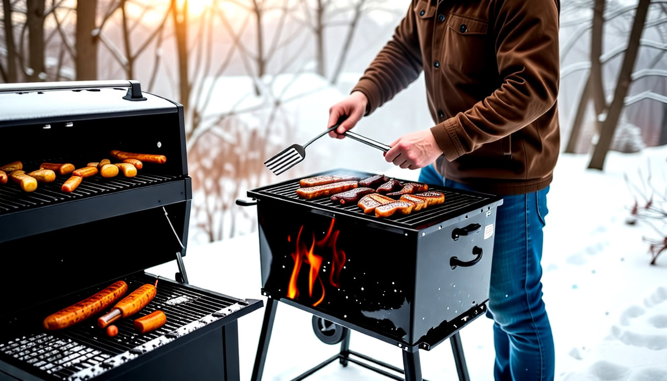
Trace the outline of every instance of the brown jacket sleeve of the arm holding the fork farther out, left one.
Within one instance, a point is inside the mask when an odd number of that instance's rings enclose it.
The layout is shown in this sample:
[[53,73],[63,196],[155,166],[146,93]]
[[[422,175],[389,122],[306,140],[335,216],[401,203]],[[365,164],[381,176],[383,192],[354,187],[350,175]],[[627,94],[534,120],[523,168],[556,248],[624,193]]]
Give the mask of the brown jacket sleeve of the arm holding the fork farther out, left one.
[[396,27],[392,39],[352,89],[361,91],[368,98],[366,115],[408,87],[422,72],[422,52],[415,21],[413,3],[410,3],[408,14]]

